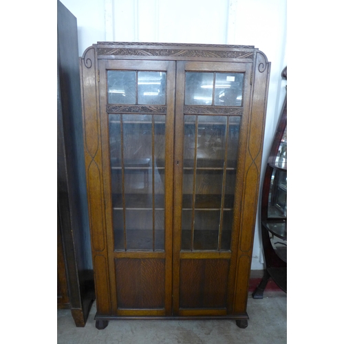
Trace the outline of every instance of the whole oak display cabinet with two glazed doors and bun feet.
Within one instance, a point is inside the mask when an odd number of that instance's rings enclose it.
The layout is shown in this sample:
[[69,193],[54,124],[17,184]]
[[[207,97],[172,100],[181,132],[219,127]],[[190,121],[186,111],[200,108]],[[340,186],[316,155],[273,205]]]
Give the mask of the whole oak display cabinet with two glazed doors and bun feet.
[[266,56],[99,42],[80,72],[96,327],[122,318],[246,327]]

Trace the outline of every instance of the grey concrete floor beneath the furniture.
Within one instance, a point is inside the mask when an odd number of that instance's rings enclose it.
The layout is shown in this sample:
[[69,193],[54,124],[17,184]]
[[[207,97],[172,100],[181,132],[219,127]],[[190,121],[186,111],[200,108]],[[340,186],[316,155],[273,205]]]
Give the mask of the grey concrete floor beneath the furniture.
[[287,295],[281,291],[264,292],[264,299],[249,294],[248,327],[240,329],[233,320],[109,321],[97,330],[96,304],[85,327],[76,327],[70,310],[57,310],[58,344],[286,344]]

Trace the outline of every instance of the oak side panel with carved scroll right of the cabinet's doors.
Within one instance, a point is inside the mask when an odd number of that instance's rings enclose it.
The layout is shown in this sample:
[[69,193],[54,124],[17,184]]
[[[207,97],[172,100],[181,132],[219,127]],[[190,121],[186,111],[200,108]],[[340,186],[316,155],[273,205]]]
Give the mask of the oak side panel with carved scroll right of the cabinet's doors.
[[248,120],[248,142],[244,168],[243,197],[241,200],[240,233],[235,272],[234,307],[236,314],[246,312],[248,279],[252,259],[255,221],[258,207],[261,155],[263,152],[266,105],[270,63],[257,51],[253,74],[252,98]]

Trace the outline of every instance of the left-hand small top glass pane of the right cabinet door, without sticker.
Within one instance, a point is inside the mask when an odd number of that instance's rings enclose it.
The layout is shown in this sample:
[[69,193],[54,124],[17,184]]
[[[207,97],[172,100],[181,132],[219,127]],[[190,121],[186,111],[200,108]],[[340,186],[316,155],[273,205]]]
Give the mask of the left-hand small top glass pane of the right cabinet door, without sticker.
[[211,105],[213,103],[213,73],[186,72],[185,104]]

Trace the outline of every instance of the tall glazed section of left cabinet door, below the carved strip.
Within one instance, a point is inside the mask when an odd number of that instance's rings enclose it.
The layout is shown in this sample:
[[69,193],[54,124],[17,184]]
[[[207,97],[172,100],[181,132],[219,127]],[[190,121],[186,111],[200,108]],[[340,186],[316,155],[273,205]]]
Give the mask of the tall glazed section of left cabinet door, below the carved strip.
[[109,115],[115,250],[164,250],[165,116]]

